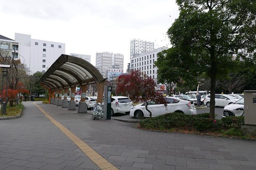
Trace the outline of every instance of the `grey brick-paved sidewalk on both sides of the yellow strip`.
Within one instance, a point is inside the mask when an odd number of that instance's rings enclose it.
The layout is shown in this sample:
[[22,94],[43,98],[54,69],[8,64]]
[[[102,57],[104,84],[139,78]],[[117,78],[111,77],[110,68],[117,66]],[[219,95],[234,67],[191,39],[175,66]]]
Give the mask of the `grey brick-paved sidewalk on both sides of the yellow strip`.
[[[36,103],[118,169],[256,170],[256,141],[145,131]],[[0,121],[0,169],[97,168],[32,102],[24,105],[21,118]]]

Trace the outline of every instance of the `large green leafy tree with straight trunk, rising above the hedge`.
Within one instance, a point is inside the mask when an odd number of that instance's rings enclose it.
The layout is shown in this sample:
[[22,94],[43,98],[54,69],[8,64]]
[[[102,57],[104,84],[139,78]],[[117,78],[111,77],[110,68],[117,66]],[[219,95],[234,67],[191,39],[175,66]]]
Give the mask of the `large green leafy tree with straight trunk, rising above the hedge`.
[[233,55],[248,63],[256,61],[256,1],[176,0],[176,3],[180,14],[167,34],[179,56],[185,55],[194,62],[188,69],[190,73],[205,72],[211,78],[210,117],[214,118],[216,80],[228,74]]

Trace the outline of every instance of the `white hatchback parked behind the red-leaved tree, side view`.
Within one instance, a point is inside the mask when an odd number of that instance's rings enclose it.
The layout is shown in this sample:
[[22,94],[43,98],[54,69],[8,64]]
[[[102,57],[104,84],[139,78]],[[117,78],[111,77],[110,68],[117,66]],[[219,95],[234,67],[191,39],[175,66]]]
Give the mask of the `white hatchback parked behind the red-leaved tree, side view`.
[[[167,106],[164,106],[164,104],[156,104],[154,100],[150,100],[148,102],[148,109],[151,111],[152,117],[173,112],[183,112],[189,115],[196,114],[196,109],[193,102],[176,97],[165,97],[165,99]],[[146,110],[145,105],[146,104],[143,103],[132,107],[130,115],[136,118],[149,117],[149,112]]]

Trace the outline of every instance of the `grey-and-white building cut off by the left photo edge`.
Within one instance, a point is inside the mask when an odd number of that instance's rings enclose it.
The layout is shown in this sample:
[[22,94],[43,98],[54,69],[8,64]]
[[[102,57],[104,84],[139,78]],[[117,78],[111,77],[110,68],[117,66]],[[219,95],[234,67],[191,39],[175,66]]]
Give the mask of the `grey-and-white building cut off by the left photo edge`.
[[18,60],[19,43],[17,41],[0,35],[0,49],[2,57],[10,56],[14,57],[14,60]]

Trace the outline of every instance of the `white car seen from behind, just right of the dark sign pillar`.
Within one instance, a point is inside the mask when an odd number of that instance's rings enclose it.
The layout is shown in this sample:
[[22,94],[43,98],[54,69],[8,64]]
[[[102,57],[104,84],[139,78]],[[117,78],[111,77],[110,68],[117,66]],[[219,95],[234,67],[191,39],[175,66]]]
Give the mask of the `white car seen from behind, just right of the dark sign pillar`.
[[132,108],[132,101],[125,96],[111,97],[111,116],[115,113],[129,114]]

